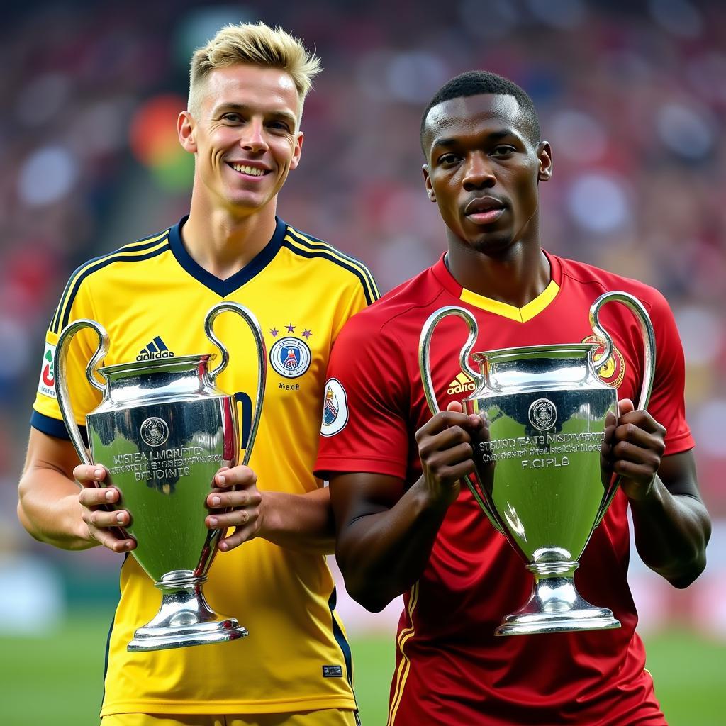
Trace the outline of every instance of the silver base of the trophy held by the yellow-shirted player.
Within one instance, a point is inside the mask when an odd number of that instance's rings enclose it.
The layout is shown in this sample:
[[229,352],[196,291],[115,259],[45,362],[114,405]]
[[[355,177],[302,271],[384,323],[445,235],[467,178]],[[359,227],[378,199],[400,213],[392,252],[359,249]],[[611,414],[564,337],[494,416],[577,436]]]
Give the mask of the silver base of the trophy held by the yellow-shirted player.
[[140,653],[188,648],[191,645],[227,643],[249,635],[237,619],[221,616],[209,607],[202,592],[205,579],[181,570],[164,575],[156,583],[162,591],[158,614],[136,630],[126,650]]

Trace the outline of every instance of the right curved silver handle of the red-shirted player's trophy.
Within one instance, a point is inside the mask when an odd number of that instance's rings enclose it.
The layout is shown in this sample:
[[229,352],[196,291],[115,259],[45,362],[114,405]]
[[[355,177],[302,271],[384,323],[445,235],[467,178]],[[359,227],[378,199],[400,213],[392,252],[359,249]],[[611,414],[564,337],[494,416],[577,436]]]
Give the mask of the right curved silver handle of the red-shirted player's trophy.
[[[608,361],[608,358],[611,356],[613,351],[613,339],[610,337],[607,330],[600,325],[600,309],[603,305],[605,305],[605,303],[612,301],[623,303],[633,312],[633,314],[635,314],[638,322],[640,322],[640,332],[643,334],[643,357],[645,359],[645,370],[643,370],[643,383],[640,388],[640,398],[638,399],[636,409],[645,409],[648,407],[648,402],[650,401],[650,393],[653,391],[653,378],[656,374],[656,333],[653,330],[653,323],[650,322],[648,311],[645,309],[645,306],[643,306],[643,303],[635,297],[635,295],[615,290],[611,293],[603,293],[603,295],[600,295],[600,297],[592,303],[592,306],[590,307],[590,326],[592,327],[592,331],[595,335],[605,340],[605,349],[603,351],[603,355],[600,357],[600,360],[597,362],[593,359],[593,354],[590,353],[590,362],[593,367],[595,367],[595,370],[599,371],[600,368],[602,368]],[[600,507],[600,512],[595,520],[595,526],[603,521],[605,512],[608,511],[610,502],[613,501],[613,497],[618,491],[619,484],[620,477],[617,477],[611,484],[610,491],[603,500],[603,505]]]

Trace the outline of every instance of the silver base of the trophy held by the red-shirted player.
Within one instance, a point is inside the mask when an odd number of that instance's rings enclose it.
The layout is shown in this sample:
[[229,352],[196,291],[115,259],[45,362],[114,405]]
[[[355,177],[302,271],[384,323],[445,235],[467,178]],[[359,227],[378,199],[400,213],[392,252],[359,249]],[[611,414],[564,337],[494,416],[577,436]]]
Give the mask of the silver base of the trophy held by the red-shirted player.
[[577,592],[576,562],[530,564],[534,574],[531,597],[523,608],[507,615],[494,635],[536,635],[537,633],[610,630],[620,627],[608,608],[590,605]]

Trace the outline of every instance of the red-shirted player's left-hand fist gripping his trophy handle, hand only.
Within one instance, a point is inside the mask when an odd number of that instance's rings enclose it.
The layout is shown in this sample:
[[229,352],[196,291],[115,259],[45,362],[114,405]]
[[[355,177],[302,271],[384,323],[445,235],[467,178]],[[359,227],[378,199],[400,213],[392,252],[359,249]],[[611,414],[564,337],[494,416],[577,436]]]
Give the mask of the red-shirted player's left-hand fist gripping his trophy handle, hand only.
[[481,417],[462,413],[452,401],[416,432],[423,481],[428,493],[446,505],[459,496],[460,478],[473,473],[472,433],[483,425]]

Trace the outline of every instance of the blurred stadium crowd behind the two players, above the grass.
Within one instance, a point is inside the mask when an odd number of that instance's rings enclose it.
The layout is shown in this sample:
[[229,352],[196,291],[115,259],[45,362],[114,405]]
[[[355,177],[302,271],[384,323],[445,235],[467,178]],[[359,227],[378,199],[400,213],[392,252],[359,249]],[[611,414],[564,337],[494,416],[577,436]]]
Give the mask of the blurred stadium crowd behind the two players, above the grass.
[[[175,121],[189,56],[220,25],[256,20],[301,36],[325,66],[306,102],[303,160],[280,216],[367,261],[382,290],[444,249],[420,171],[420,113],[433,92],[471,68],[529,91],[555,160],[542,187],[544,246],[658,287],[685,348],[688,418],[714,538],[708,570],[685,592],[632,563],[644,625],[687,621],[726,637],[726,5],[715,0],[6,9],[0,629],[20,632],[38,613],[52,618],[115,597],[113,555],[53,550],[15,516],[44,331],[78,264],[187,212],[192,158],[176,142]],[[376,622],[351,613],[351,627]]]

